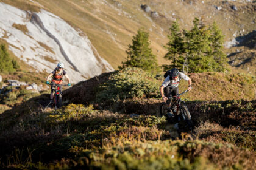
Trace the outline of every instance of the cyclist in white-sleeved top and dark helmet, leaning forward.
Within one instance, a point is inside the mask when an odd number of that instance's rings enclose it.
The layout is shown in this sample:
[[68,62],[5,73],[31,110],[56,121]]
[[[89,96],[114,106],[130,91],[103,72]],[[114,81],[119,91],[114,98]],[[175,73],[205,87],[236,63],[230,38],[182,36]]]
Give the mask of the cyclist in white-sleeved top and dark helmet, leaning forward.
[[165,78],[165,81],[163,81],[159,90],[163,98],[163,101],[165,101],[168,104],[167,112],[171,112],[171,100],[168,99],[168,97],[176,96],[177,94],[179,94],[178,86],[180,80],[184,79],[188,81],[188,91],[192,89],[192,81],[187,75],[185,75],[182,72],[179,72],[179,70],[176,68],[173,68],[166,72],[166,75],[167,77]]

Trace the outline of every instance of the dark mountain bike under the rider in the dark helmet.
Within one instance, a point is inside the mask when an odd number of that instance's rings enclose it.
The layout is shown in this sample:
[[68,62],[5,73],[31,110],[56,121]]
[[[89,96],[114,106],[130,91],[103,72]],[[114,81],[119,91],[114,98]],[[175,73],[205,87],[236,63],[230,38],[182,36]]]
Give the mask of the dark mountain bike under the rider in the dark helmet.
[[185,104],[185,101],[181,100],[180,96],[187,93],[188,90],[182,92],[181,94],[177,94],[173,97],[168,97],[169,100],[175,99],[171,104],[170,112],[168,112],[168,104],[163,102],[160,105],[160,116],[165,116],[168,121],[175,121],[176,123],[184,123],[185,128],[193,129],[194,125],[191,120],[190,112],[188,111],[188,107]]

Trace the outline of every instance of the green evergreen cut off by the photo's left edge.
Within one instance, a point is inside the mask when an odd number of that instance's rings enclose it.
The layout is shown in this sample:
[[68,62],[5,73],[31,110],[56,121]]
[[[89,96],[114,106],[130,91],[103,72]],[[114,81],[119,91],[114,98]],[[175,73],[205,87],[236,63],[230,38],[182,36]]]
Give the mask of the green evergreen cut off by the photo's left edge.
[[11,60],[4,44],[0,45],[0,72],[15,72],[20,66]]

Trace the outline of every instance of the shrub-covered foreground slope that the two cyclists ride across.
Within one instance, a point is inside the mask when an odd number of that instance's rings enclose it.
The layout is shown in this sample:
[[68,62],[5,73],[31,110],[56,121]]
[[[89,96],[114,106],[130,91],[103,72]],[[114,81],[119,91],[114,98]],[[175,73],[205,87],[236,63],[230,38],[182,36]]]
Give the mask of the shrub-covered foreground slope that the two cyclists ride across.
[[[255,92],[255,77],[224,73],[190,77],[193,90],[182,98],[191,112],[193,131],[177,131],[165,117],[158,117],[162,80],[141,69],[127,68],[65,90],[66,106],[59,110],[44,109],[49,100],[44,94],[2,113],[0,166],[252,169],[256,102],[250,90]],[[225,94],[224,88],[217,90],[224,85],[234,94]],[[180,92],[186,87],[187,82],[182,81]],[[107,89],[113,90],[108,93]],[[203,89],[205,95],[197,94]]]

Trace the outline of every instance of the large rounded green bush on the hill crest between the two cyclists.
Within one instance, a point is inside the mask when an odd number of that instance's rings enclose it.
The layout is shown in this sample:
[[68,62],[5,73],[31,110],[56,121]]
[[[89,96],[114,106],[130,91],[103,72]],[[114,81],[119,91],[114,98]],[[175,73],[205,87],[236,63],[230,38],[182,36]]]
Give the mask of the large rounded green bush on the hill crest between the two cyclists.
[[98,87],[96,100],[100,102],[160,97],[159,86],[160,84],[151,73],[138,68],[126,68],[114,73],[110,80]]

